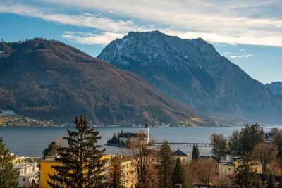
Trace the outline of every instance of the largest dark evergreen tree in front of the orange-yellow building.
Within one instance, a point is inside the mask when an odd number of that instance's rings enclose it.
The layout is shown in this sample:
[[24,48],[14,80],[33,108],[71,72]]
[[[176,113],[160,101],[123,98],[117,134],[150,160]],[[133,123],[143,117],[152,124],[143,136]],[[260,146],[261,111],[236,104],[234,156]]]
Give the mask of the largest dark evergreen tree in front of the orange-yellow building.
[[102,167],[100,161],[105,149],[97,142],[101,137],[99,132],[89,128],[88,120],[75,118],[77,131],[68,130],[69,137],[63,137],[68,142],[68,147],[60,147],[59,158],[56,161],[60,165],[52,166],[56,174],[49,175],[49,186],[55,187],[102,187]]

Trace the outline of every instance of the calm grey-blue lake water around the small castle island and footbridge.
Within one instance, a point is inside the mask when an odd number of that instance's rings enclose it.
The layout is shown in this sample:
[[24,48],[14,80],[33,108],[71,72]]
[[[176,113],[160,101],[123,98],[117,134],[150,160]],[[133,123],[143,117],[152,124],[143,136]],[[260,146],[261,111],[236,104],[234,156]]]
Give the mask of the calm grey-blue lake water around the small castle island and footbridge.
[[[242,130],[242,126],[234,127],[150,127],[150,135],[157,142],[209,142],[209,137],[213,133],[231,135],[234,130]],[[279,127],[281,128],[281,127]],[[67,136],[67,129],[75,130],[75,127],[0,127],[0,137],[9,147],[12,153],[19,156],[42,156],[42,151],[56,138]],[[98,144],[104,145],[114,132],[121,132],[121,127],[97,127],[102,139]],[[139,132],[141,127],[124,127],[125,132]],[[264,127],[265,132],[269,132],[270,127]],[[106,146],[103,146],[106,147]],[[125,149],[107,146],[106,153],[124,153]],[[182,149],[190,154],[191,147],[173,146],[173,151]],[[212,155],[209,147],[199,147],[201,155]]]

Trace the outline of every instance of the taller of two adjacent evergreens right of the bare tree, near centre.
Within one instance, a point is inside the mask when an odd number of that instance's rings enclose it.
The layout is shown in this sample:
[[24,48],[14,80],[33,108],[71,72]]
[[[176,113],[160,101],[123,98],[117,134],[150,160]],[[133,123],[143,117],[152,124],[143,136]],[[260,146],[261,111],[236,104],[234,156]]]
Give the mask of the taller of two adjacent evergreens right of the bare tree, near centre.
[[174,166],[174,154],[171,151],[171,147],[168,142],[164,141],[159,149],[159,165],[158,165],[158,175],[159,175],[159,187],[171,187],[171,174]]

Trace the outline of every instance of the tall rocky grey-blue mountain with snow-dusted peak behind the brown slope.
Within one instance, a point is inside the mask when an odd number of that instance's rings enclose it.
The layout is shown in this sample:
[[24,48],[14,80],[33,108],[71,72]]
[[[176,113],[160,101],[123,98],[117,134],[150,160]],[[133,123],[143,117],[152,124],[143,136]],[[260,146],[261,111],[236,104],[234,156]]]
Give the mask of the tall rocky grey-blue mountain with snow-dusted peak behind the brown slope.
[[282,101],[203,39],[129,32],[97,58],[144,77],[199,111],[257,123],[281,123]]

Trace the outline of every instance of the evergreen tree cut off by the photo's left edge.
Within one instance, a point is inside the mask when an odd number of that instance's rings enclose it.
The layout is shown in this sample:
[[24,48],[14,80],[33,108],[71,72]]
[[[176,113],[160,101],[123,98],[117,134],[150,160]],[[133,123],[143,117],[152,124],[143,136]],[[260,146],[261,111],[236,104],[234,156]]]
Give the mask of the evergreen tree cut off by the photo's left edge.
[[0,187],[18,187],[18,170],[13,170],[13,156],[0,137]]

